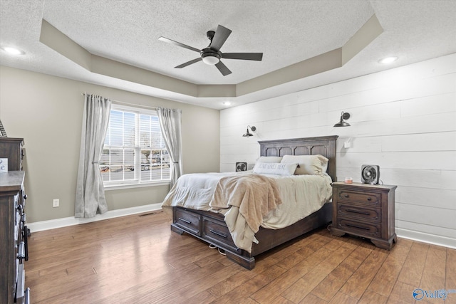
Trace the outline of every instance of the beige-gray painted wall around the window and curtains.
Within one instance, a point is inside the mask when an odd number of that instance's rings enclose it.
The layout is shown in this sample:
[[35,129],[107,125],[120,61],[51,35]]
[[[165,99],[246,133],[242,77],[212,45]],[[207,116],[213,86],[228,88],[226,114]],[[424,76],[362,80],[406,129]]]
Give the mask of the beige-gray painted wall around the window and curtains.
[[[25,142],[29,223],[74,216],[83,92],[181,109],[184,173],[219,171],[219,110],[0,65],[0,119],[9,137]],[[110,210],[125,209],[160,203],[168,190],[168,185],[109,190],[106,198]],[[60,199],[60,207],[52,207],[53,199]]]

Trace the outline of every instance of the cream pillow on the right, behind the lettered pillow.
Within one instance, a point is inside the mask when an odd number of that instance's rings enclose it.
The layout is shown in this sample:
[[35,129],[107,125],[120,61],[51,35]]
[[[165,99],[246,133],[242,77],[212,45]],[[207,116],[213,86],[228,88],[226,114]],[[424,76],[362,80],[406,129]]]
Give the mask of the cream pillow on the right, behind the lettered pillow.
[[323,155],[284,155],[282,164],[299,164],[295,175],[311,174],[320,175],[328,168],[328,159]]

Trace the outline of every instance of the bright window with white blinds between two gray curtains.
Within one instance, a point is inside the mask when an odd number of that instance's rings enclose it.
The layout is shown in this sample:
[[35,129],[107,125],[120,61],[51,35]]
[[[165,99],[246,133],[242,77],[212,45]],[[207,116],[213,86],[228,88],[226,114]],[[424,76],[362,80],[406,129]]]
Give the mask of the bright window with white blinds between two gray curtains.
[[157,112],[113,105],[100,160],[103,184],[169,182],[170,166]]

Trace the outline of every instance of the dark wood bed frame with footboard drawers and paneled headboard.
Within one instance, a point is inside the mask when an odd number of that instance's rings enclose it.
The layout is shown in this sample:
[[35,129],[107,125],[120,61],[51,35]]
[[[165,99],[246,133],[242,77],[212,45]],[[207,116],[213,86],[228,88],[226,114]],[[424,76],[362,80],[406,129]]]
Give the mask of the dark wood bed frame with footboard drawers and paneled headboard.
[[[273,158],[284,157],[285,155],[322,155],[328,159],[326,177],[331,177],[332,181],[336,181],[337,137],[337,135],[333,135],[325,137],[259,141],[260,156]],[[246,174],[245,177],[250,178],[251,175],[256,174]],[[229,179],[229,177],[227,178]],[[329,182],[331,182],[331,180]],[[175,187],[173,187],[171,192],[175,193],[179,191],[174,189]],[[203,197],[204,192],[207,191],[207,189],[204,188],[207,187],[203,185],[201,188],[201,197]],[[270,193],[273,192],[271,188],[269,188],[269,190]],[[217,190],[215,190],[213,195],[215,196],[217,193]],[[170,196],[170,194],[168,194],[168,196]],[[259,226],[259,229],[254,231],[254,235],[252,236],[254,241],[249,244],[249,248],[242,248],[242,246],[237,246],[237,244],[239,245],[239,238],[237,236],[232,236],[232,223],[229,221],[227,214],[224,212],[217,213],[213,210],[207,211],[200,209],[197,206],[199,195],[193,195],[191,198],[186,197],[186,199],[195,200],[194,204],[196,204],[196,206],[194,208],[187,208],[185,205],[172,206],[168,196],[167,199],[165,199],[162,208],[172,212],[172,231],[177,234],[187,233],[213,246],[217,246],[224,251],[227,258],[247,269],[254,268],[255,256],[279,246],[286,241],[306,234],[320,226],[326,225],[331,222],[332,218],[331,201],[330,199],[327,199],[327,201],[325,199],[322,206],[318,207],[321,209],[314,211],[309,216],[296,221],[294,224],[280,229],[269,229],[264,228],[264,226]],[[272,196],[272,194],[269,196]],[[271,209],[274,209],[275,205],[271,205]],[[227,221],[225,221],[225,219],[227,219]],[[247,232],[246,234],[248,235]]]

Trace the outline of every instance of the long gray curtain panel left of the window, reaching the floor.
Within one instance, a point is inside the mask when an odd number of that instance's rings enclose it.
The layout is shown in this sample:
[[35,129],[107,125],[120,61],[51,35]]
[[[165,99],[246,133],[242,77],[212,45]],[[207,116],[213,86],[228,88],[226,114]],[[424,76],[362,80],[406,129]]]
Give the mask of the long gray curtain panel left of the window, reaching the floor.
[[90,218],[97,212],[103,214],[108,211],[98,162],[103,152],[110,109],[110,100],[86,94],[76,182],[75,217]]

